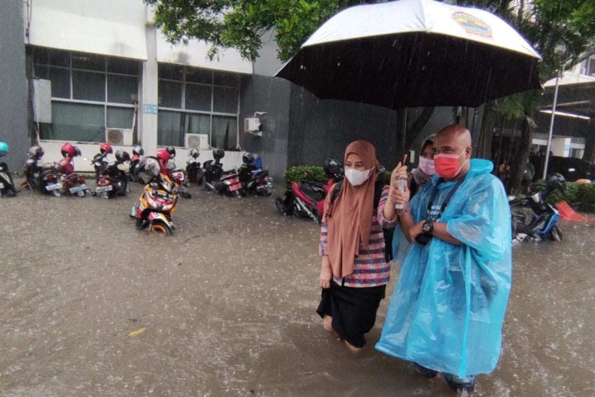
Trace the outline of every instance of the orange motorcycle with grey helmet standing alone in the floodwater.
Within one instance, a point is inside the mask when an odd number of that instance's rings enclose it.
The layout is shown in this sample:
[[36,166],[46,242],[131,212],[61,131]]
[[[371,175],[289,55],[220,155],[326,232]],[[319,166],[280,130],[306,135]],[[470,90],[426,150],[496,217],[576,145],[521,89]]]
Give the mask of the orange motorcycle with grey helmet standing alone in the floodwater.
[[145,157],[139,162],[138,173],[145,183],[137,205],[132,207],[130,217],[136,227],[170,235],[175,229],[171,215],[176,211],[178,187],[167,175],[155,157]]

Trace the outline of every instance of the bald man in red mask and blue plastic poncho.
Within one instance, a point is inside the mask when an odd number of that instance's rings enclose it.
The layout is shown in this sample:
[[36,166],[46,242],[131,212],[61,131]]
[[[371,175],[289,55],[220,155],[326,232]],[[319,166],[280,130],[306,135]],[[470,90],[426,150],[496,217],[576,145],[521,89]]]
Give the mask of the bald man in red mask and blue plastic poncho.
[[490,174],[493,164],[471,160],[468,130],[444,127],[434,146],[437,175],[411,202],[406,187],[395,180],[390,186],[384,217],[399,218],[412,246],[376,348],[471,392],[475,376],[493,371],[500,357],[511,214],[502,183]]

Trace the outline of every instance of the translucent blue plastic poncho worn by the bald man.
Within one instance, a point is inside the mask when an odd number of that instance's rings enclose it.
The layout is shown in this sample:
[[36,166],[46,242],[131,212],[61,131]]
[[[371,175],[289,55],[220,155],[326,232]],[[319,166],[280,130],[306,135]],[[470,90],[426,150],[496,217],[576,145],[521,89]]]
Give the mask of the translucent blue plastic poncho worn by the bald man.
[[[386,354],[463,377],[490,373],[500,357],[511,287],[511,215],[487,160],[471,160],[465,181],[439,222],[464,245],[434,237],[412,244],[397,280],[380,341]],[[439,177],[411,200],[415,222],[427,218]],[[454,182],[439,184],[434,208]]]

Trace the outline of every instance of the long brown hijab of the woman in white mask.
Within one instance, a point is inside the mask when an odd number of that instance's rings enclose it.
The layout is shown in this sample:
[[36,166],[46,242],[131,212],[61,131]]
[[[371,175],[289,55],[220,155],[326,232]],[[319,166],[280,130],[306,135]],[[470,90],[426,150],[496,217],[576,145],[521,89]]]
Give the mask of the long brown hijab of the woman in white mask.
[[362,185],[353,186],[345,180],[333,204],[332,194],[327,195],[324,205],[324,218],[328,224],[327,252],[335,277],[345,277],[353,273],[353,264],[359,255],[359,245],[364,249],[368,248],[372,229],[374,183],[378,175],[376,151],[371,143],[356,140],[345,149],[344,160],[346,161],[347,156],[352,153],[359,155],[364,162],[365,170],[372,171]]

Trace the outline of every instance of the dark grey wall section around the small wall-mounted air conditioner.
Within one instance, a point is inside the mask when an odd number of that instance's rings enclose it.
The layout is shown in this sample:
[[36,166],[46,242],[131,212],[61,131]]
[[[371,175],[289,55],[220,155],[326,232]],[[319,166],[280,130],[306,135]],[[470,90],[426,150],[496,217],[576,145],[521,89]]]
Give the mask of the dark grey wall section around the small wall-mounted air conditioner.
[[[284,184],[288,161],[290,90],[287,80],[257,74],[242,79],[240,88],[240,147],[261,155],[277,186]],[[262,136],[244,132],[244,118],[253,117],[255,112],[267,112],[257,115],[263,124]]]

